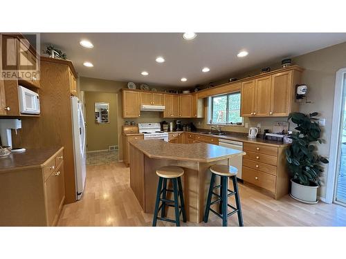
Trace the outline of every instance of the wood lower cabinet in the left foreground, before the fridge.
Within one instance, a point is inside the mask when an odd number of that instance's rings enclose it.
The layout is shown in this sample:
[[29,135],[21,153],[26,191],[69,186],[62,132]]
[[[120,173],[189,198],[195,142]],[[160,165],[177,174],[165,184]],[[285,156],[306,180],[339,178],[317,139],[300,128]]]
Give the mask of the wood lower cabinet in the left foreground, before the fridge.
[[64,200],[63,148],[42,164],[0,171],[0,226],[55,226]]

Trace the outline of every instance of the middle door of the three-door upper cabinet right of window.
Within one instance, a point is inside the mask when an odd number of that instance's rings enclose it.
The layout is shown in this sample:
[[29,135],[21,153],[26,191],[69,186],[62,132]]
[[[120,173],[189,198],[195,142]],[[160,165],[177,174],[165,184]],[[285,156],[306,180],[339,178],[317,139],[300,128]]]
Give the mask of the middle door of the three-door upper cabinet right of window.
[[271,109],[271,75],[255,80],[255,116],[269,116]]

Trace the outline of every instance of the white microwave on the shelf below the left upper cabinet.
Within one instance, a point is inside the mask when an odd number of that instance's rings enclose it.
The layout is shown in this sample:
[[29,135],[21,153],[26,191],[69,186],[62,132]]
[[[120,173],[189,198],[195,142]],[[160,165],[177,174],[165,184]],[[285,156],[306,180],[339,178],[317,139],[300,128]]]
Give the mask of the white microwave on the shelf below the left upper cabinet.
[[39,114],[39,94],[18,86],[19,108],[23,114]]

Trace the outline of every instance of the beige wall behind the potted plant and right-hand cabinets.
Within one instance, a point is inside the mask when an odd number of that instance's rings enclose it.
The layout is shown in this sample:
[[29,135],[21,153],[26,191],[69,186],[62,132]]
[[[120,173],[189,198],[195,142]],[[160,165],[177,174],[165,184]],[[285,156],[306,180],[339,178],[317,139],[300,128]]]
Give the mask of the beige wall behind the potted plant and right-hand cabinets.
[[[311,113],[317,111],[320,113],[320,117],[326,119],[326,125],[322,127],[322,139],[325,140],[322,144],[318,144],[318,153],[320,155],[329,156],[330,139],[331,139],[331,122],[333,116],[334,105],[334,88],[336,71],[340,68],[346,67],[346,43],[338,44],[322,50],[316,50],[315,52],[308,53],[299,57],[293,58],[293,64],[297,64],[304,68],[302,73],[302,83],[307,84],[309,87],[309,93],[307,99],[311,101],[311,104],[300,104],[301,113]],[[264,66],[262,66],[264,67]],[[248,75],[257,75],[260,73],[260,68],[253,69],[251,72],[242,73],[242,75],[235,76],[238,79],[242,79]],[[272,70],[280,68],[280,63],[271,65]],[[220,80],[220,83],[226,82],[226,80]],[[273,122],[278,120],[286,120],[284,118],[268,118],[268,119],[244,119],[244,122],[248,122],[249,126],[257,126],[257,122],[260,122],[261,128],[271,128]],[[208,128],[205,120],[197,120],[201,123],[203,128]],[[291,124],[291,128],[293,125]],[[247,132],[248,128],[244,127],[224,127],[227,131]],[[325,198],[326,194],[326,181],[327,181],[328,165],[325,166],[325,173],[322,177],[323,186],[320,188],[320,197]],[[331,172],[332,173],[332,172]]]

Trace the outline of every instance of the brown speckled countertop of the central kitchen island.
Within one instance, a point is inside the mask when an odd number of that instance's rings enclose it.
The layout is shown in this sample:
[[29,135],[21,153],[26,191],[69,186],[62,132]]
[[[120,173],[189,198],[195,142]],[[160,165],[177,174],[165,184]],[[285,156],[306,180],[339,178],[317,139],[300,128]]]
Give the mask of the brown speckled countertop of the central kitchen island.
[[208,163],[246,155],[243,151],[202,142],[194,144],[172,144],[163,140],[132,140],[129,144],[138,148],[149,158],[163,160]]

